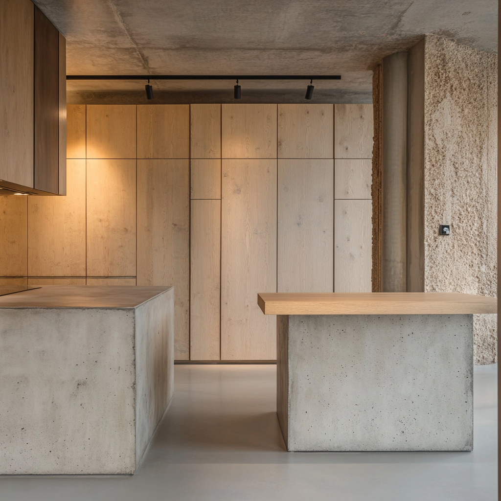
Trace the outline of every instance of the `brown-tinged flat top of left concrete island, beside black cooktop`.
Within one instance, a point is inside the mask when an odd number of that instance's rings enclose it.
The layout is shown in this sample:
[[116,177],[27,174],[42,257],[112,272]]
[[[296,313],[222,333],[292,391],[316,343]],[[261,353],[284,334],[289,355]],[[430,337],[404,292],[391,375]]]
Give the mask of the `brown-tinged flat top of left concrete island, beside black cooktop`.
[[0,297],[2,308],[135,308],[171,287],[42,286]]

